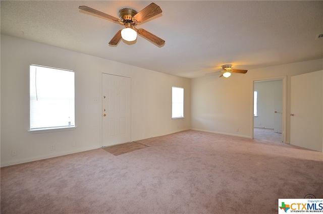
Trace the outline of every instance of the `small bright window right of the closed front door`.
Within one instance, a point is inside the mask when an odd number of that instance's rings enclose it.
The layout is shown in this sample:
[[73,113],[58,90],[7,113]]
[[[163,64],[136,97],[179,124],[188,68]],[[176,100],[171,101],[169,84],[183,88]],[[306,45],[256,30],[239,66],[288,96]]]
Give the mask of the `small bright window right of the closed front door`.
[[184,117],[184,88],[172,87],[172,118]]

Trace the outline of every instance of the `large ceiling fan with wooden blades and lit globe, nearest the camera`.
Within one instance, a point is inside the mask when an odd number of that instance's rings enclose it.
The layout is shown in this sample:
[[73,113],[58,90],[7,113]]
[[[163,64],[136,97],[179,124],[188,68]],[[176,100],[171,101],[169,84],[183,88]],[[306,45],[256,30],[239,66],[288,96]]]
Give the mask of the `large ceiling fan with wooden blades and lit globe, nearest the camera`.
[[[160,14],[162,11],[154,3],[151,3],[141,11],[137,13],[137,11],[131,9],[131,8],[123,8],[119,11],[119,17],[116,18],[113,16],[110,16],[108,14],[102,13],[100,11],[97,11],[95,9],[89,8],[87,6],[80,6],[80,10],[101,16],[106,19],[110,19],[114,21],[115,23],[119,23],[122,25],[125,25],[124,29],[119,30],[116,35],[111,39],[109,44],[111,45],[117,45],[121,38],[125,39],[126,41],[134,41],[137,38],[137,33],[144,38],[148,39],[149,41],[155,43],[158,46],[164,45],[165,40],[159,38],[158,36],[155,36],[154,34],[142,29],[142,28],[135,28],[135,25],[150,19],[151,17],[154,17],[158,14]],[[135,29],[135,30],[134,30]]]

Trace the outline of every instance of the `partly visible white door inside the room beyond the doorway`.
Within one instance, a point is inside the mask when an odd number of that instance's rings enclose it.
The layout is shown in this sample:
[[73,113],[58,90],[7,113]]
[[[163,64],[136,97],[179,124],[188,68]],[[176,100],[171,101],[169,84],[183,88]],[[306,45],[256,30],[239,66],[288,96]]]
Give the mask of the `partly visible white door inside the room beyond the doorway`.
[[283,81],[278,80],[274,87],[274,132],[282,133],[283,126]]

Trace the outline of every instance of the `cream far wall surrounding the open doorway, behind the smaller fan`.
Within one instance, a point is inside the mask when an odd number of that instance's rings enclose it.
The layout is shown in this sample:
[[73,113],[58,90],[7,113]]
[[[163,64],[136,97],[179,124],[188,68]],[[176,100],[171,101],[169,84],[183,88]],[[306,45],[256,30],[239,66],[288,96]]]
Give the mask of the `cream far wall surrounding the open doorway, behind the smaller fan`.
[[[322,70],[323,60],[249,70],[230,78],[219,75],[191,80],[191,128],[214,133],[252,137],[253,81],[287,77],[286,142],[290,139],[290,78]],[[237,129],[239,129],[237,131]]]

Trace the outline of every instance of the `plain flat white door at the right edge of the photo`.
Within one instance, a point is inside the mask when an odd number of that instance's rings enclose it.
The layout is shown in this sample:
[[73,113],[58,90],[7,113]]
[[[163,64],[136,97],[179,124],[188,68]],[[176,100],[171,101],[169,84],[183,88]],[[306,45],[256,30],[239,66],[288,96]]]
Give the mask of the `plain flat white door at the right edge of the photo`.
[[291,77],[291,137],[293,145],[323,149],[323,71]]

